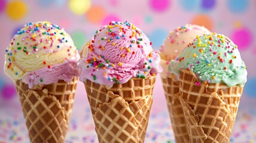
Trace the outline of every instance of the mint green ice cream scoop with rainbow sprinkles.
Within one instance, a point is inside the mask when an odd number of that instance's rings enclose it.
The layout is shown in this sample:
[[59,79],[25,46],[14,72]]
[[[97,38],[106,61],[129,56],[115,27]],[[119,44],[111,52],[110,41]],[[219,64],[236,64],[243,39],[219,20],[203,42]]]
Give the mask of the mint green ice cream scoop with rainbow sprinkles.
[[169,71],[191,70],[201,83],[226,83],[227,86],[246,82],[247,71],[238,46],[217,33],[196,36],[177,60],[171,60]]

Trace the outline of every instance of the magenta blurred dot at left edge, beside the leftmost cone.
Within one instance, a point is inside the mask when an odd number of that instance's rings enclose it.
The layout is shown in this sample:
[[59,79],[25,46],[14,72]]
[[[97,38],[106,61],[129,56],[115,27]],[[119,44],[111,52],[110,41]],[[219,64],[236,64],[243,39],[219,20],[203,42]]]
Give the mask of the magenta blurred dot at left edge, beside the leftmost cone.
[[17,94],[16,88],[13,84],[5,84],[1,89],[2,98],[4,100],[10,100]]

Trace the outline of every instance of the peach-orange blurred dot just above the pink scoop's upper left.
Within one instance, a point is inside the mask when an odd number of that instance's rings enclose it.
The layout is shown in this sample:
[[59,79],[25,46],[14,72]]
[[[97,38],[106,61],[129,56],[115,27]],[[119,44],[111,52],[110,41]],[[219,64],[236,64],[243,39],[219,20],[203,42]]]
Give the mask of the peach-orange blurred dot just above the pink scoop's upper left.
[[87,20],[91,23],[100,23],[106,11],[101,5],[92,5],[86,13]]

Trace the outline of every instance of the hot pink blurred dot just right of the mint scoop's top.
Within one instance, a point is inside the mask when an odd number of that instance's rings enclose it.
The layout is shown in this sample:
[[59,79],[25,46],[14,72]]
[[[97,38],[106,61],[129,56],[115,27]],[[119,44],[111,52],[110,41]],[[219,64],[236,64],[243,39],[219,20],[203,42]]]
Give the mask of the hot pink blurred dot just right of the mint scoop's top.
[[233,31],[231,39],[238,45],[239,50],[245,50],[252,43],[252,33],[246,28],[236,29]]

